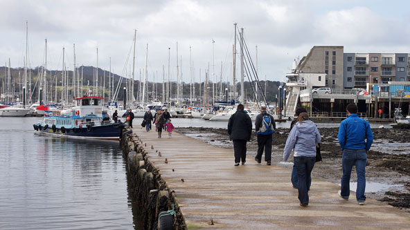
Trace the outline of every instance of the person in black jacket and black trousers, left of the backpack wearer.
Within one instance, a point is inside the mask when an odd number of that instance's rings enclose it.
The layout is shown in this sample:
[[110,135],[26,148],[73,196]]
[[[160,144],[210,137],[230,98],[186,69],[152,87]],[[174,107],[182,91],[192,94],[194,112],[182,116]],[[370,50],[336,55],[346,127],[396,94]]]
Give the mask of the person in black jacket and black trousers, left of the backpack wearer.
[[247,142],[251,140],[252,120],[244,112],[244,106],[238,104],[236,112],[231,115],[228,122],[229,140],[233,142],[233,152],[235,155],[235,166],[245,164],[247,161]]

